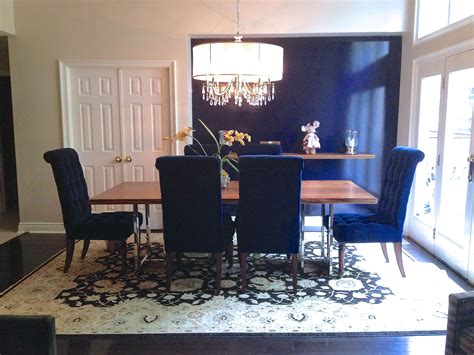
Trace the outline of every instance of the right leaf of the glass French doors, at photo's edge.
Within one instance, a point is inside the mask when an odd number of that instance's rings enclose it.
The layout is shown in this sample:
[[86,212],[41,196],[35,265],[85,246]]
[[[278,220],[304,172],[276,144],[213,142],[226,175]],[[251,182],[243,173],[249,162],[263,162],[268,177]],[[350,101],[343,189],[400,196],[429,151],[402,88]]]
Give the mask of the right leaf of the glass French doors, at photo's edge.
[[474,148],[469,100],[474,86],[474,50],[447,57],[445,81],[435,255],[467,278],[469,259],[473,257],[469,249],[474,187],[468,174]]

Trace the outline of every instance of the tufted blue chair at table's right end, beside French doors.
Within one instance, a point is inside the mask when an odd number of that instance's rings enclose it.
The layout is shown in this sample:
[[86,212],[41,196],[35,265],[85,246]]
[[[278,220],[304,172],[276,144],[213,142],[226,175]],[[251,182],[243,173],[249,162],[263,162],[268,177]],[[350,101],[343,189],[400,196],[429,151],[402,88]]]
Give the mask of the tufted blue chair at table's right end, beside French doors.
[[[344,248],[347,243],[380,243],[388,262],[386,243],[394,243],[400,273],[405,277],[402,260],[403,224],[410,188],[423,152],[408,148],[392,149],[376,214],[342,213],[334,215],[333,235],[339,242],[339,274],[344,272]],[[325,219],[327,226],[327,218]]]

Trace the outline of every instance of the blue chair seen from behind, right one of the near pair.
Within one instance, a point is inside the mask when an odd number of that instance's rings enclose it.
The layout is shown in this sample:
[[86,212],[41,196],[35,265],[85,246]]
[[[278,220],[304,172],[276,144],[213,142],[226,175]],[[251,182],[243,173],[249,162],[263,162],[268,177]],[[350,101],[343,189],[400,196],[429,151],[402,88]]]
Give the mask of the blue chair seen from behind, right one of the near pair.
[[297,289],[303,159],[242,156],[237,243],[242,291],[248,253],[291,254],[293,292]]

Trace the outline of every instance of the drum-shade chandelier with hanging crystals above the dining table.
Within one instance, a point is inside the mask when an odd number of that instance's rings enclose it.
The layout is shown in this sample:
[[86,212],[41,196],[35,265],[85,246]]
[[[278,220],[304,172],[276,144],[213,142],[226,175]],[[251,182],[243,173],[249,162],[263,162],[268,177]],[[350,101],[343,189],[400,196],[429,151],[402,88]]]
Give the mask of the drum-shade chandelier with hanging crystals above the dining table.
[[283,77],[283,48],[268,43],[242,42],[240,1],[237,0],[234,42],[205,43],[193,47],[193,79],[203,81],[202,99],[224,106],[231,99],[242,106],[266,105],[275,98],[274,81]]

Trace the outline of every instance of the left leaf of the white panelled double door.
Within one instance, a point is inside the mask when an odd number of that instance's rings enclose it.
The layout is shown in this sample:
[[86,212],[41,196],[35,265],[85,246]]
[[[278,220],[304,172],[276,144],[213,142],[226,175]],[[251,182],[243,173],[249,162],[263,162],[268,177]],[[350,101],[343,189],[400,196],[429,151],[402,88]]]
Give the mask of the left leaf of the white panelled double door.
[[[114,68],[71,68],[72,146],[83,165],[89,196],[122,181],[118,78]],[[94,206],[113,211],[116,206]]]

